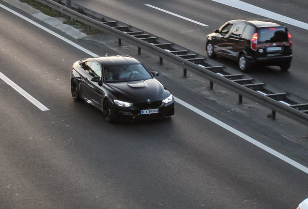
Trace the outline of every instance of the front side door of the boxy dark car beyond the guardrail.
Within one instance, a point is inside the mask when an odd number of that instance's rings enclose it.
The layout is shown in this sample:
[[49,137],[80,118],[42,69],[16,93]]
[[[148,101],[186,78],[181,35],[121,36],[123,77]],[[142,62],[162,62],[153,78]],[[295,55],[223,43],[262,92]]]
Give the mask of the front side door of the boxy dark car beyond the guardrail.
[[227,23],[220,30],[219,33],[214,37],[214,52],[223,56],[228,55],[228,50],[231,47],[229,42],[229,37],[231,34],[231,29],[234,25]]

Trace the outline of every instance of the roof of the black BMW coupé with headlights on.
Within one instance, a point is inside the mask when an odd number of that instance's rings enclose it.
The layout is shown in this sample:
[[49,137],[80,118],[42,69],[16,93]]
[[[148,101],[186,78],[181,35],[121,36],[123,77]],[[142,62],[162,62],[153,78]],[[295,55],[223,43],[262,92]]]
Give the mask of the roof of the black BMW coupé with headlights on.
[[98,57],[93,58],[94,60],[98,60],[101,64],[106,66],[114,66],[114,65],[122,65],[122,64],[137,64],[140,63],[135,58],[130,56],[106,56],[106,57]]

